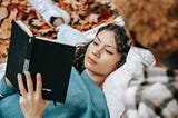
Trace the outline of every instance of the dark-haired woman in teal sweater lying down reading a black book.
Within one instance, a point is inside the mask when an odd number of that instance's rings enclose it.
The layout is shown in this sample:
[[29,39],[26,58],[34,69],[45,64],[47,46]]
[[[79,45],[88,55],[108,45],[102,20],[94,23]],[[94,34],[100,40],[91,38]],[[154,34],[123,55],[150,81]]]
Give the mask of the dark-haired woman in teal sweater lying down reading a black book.
[[[61,18],[57,18],[53,24],[58,20],[58,24],[62,24]],[[101,91],[102,83],[112,71],[126,61],[130,48],[128,41],[129,39],[122,27],[117,24],[101,27],[96,38],[88,45],[83,60],[85,71],[79,75],[72,68],[67,100],[63,105],[57,102],[57,106],[53,106],[53,102],[42,99],[41,76],[39,73],[37,75],[37,87],[33,88],[30,73],[26,72],[28,92],[23,87],[21,76],[18,75],[19,89],[22,95],[20,96],[20,106],[24,116],[31,118],[39,118],[42,115],[50,118],[108,118],[107,102]],[[6,87],[3,86],[3,88]],[[34,89],[37,90],[34,91]],[[1,117],[11,118],[14,117],[13,114],[18,118],[23,117],[18,100],[18,94],[4,97],[0,101]],[[8,108],[7,105],[11,105],[11,107]]]

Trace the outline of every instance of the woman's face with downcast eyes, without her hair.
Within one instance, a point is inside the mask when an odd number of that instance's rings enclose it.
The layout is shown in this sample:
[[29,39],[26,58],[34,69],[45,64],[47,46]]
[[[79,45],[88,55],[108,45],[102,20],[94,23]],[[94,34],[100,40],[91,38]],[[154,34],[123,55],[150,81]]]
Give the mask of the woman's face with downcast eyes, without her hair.
[[117,52],[115,33],[103,30],[88,46],[85,67],[92,73],[108,76],[118,68],[120,59],[121,55]]

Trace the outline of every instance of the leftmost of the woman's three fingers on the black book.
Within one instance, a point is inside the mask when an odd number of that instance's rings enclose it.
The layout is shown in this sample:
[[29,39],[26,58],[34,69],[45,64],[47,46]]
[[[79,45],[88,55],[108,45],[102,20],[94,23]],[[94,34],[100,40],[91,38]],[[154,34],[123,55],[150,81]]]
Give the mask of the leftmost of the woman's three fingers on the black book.
[[20,73],[18,73],[18,86],[19,86],[20,94],[22,96],[26,96],[27,95],[27,90],[24,88],[22,76]]

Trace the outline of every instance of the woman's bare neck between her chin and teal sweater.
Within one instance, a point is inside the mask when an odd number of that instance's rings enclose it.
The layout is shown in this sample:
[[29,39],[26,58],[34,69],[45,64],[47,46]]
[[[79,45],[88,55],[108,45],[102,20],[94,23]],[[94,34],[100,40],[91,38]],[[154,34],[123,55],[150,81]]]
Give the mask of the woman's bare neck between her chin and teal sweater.
[[86,72],[88,73],[88,76],[100,87],[102,88],[102,83],[105,81],[105,79],[107,78],[107,76],[103,75],[99,75],[92,71],[89,71],[86,69]]

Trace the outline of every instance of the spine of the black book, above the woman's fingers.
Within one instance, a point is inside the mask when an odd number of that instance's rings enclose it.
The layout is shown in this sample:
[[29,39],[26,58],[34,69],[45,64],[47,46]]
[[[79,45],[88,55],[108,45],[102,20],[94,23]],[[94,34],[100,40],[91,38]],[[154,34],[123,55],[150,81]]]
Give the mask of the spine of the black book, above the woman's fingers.
[[27,45],[27,53],[26,53],[26,58],[24,58],[24,62],[23,62],[22,72],[29,70],[33,40],[34,40],[34,37],[29,37],[29,41],[28,41],[28,45]]

